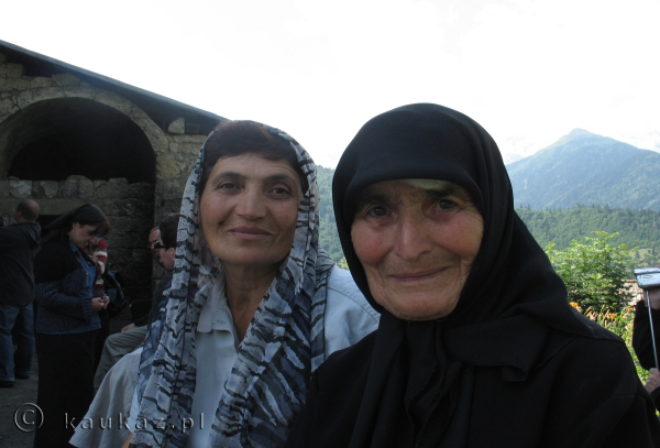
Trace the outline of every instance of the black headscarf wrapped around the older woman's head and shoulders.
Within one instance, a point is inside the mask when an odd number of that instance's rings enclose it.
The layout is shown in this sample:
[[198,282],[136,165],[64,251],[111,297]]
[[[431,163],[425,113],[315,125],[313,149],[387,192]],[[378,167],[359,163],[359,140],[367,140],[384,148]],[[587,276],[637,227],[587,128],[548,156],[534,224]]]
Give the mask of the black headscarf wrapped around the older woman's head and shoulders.
[[[374,183],[413,178],[460,185],[484,220],[459,303],[440,320],[408,323],[380,306],[351,241],[360,193]],[[413,434],[419,446],[463,446],[472,367],[501,368],[505,380],[520,381],[540,362],[551,328],[615,338],[568,304],[563,282],[514,211],[497,145],[469,117],[428,103],[375,117],[343,153],[332,195],[351,274],[382,314],[352,447],[405,446]]]

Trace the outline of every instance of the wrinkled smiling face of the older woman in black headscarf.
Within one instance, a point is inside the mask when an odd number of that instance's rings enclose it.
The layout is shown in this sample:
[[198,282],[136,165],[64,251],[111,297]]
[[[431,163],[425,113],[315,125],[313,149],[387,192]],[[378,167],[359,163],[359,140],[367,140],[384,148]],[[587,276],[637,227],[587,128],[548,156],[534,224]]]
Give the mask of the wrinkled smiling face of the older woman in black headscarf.
[[351,238],[374,299],[398,318],[430,320],[455,308],[483,230],[462,187],[387,181],[360,195]]

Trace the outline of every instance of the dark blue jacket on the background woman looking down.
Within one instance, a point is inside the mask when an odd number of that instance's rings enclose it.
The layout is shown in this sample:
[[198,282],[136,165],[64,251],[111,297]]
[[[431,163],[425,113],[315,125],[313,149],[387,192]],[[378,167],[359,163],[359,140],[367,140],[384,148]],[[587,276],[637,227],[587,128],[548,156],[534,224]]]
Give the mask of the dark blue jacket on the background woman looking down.
[[34,265],[34,298],[38,304],[36,332],[58,334],[82,326],[100,328],[91,297],[82,293],[87,272],[68,241],[50,241],[38,251]]

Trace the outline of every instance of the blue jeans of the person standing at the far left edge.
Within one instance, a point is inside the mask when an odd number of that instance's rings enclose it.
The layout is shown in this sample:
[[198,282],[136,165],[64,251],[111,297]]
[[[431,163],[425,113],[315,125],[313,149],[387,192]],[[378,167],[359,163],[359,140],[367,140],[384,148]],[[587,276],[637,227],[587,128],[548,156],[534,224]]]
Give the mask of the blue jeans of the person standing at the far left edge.
[[[15,352],[14,343],[18,346]],[[14,381],[14,374],[30,376],[33,353],[32,304],[20,306],[0,304],[0,380]]]

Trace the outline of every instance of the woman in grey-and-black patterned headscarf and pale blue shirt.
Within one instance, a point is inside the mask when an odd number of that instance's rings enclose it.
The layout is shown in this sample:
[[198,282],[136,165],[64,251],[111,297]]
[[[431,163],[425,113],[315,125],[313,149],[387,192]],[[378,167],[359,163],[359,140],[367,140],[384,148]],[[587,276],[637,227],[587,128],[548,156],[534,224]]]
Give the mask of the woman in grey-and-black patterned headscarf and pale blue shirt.
[[311,371],[377,326],[318,245],[316,166],[286,133],[220,123],[182,204],[175,274],[147,336],[139,447],[278,447]]

